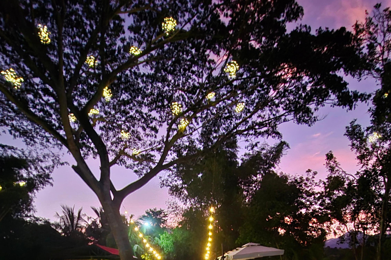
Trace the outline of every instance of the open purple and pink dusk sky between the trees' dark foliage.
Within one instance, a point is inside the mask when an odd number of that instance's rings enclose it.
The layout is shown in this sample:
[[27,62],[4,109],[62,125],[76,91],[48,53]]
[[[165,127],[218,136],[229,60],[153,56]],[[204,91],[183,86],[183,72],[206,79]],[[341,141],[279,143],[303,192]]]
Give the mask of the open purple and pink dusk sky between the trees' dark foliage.
[[[298,0],[304,7],[303,24],[311,25],[313,31],[316,28],[329,27],[338,28],[345,26],[348,29],[356,20],[362,21],[365,18],[365,10],[372,10],[372,7],[379,1],[372,0]],[[391,0],[381,1],[383,7],[391,6]],[[360,91],[371,92],[377,88],[373,80],[357,82],[349,79],[350,88]],[[283,157],[280,170],[290,174],[304,174],[305,170],[318,171],[319,177],[326,176],[324,168],[325,153],[332,150],[342,167],[348,172],[357,170],[354,154],[349,149],[349,142],[345,133],[345,126],[358,118],[362,125],[368,125],[368,106],[359,104],[356,110],[346,112],[341,108],[324,108],[319,114],[325,119],[317,122],[314,126],[295,125],[287,123],[281,126],[281,131],[291,149]],[[8,143],[5,136],[2,143]],[[15,142],[12,142],[15,145]],[[72,163],[72,158],[69,156]],[[98,162],[93,160],[89,163],[92,170],[98,171]],[[113,182],[117,188],[134,181],[136,176],[130,171],[121,167],[114,167],[112,171]],[[98,199],[86,184],[73,172],[69,166],[61,167],[54,171],[53,187],[47,187],[37,194],[35,206],[37,216],[55,220],[54,213],[60,212],[60,205],[75,205],[76,208],[83,207],[83,212],[93,216],[90,206],[99,206]],[[159,178],[156,177],[143,188],[128,196],[124,205],[129,214],[142,215],[149,208],[166,208],[165,202],[169,200],[167,190],[159,187]],[[124,212],[123,208],[121,209]]]

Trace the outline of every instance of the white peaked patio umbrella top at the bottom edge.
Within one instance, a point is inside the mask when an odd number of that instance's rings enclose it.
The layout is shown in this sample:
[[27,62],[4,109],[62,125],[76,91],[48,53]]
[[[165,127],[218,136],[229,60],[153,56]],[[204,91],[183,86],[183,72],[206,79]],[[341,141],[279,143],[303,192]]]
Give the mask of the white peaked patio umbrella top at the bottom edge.
[[[246,260],[264,256],[283,255],[284,250],[273,247],[261,246],[256,243],[247,243],[224,254],[225,260]],[[221,256],[218,257],[221,259]]]

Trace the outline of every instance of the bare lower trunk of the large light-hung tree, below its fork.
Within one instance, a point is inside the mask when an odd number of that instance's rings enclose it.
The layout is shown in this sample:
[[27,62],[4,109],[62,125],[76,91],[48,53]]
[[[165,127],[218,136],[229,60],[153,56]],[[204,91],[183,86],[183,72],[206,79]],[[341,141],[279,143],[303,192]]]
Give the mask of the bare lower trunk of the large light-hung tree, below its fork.
[[107,203],[101,203],[120,251],[121,260],[133,259],[133,250],[128,238],[128,227],[121,218],[119,208],[115,207],[111,200]]

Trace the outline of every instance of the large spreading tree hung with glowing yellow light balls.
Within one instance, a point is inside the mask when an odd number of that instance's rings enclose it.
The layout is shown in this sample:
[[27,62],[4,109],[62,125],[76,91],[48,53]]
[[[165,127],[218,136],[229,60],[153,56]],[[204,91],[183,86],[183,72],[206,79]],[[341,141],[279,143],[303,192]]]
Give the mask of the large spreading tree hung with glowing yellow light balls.
[[[340,76],[360,69],[353,36],[287,34],[302,14],[293,0],[1,1],[0,125],[27,146],[73,156],[130,259],[119,209],[159,172],[362,98]],[[114,165],[139,179],[115,187]]]

